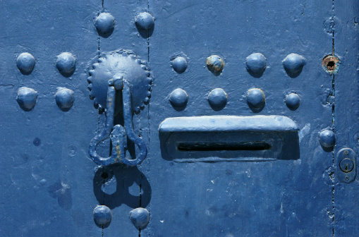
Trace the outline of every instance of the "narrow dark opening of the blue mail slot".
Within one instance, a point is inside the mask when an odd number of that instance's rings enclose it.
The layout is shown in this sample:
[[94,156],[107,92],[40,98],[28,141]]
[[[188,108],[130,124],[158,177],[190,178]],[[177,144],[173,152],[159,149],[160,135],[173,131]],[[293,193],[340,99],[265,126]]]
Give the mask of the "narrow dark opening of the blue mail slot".
[[270,150],[272,146],[267,142],[177,142],[180,151],[242,151],[242,150]]

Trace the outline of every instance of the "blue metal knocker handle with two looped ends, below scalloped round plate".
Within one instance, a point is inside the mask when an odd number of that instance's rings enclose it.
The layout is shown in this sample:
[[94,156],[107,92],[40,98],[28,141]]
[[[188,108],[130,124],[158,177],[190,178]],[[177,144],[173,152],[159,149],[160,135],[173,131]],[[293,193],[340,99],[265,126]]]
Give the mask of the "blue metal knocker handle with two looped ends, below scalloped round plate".
[[[115,77],[114,77],[115,78]],[[114,126],[114,110],[116,89],[121,90],[123,96],[123,118],[124,126],[117,124]],[[101,133],[95,136],[90,142],[89,154],[92,160],[101,166],[107,166],[114,163],[123,163],[129,166],[135,166],[141,164],[147,155],[147,147],[145,142],[138,135],[135,135],[132,126],[132,110],[131,110],[131,95],[130,95],[130,83],[121,77],[117,77],[115,80],[109,80],[109,89],[107,91],[107,109],[105,111],[106,121],[104,129]],[[100,157],[96,152],[96,147],[99,142],[111,139],[112,151],[111,156],[104,158]],[[127,147],[127,138],[138,145],[139,155],[135,159],[129,159],[126,157],[125,148]]]

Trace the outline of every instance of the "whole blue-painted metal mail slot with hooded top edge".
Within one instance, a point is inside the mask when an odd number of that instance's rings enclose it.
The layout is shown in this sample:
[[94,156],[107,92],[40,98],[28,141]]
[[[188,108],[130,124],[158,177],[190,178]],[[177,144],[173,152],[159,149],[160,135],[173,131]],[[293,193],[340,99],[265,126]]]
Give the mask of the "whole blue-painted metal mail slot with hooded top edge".
[[298,126],[284,116],[197,116],[164,120],[162,157],[174,162],[299,159]]

